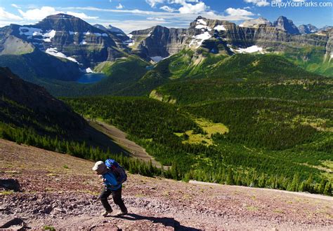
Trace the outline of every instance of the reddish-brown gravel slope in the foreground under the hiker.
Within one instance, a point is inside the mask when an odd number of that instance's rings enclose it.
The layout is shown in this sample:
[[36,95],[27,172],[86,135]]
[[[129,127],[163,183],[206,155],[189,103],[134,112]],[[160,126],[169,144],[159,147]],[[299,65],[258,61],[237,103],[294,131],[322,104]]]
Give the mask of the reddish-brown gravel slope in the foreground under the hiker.
[[123,190],[130,214],[103,218],[92,165],[0,139],[0,176],[22,186],[21,193],[0,191],[0,226],[22,218],[30,228],[56,230],[333,230],[325,198],[131,174]]

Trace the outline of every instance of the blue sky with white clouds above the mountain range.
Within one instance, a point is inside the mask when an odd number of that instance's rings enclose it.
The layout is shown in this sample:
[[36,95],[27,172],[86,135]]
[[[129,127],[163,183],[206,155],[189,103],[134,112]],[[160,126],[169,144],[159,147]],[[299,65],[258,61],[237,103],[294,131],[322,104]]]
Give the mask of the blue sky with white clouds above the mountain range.
[[[295,25],[333,25],[333,0],[0,0],[0,27],[32,25],[48,15],[67,13],[86,22],[112,25],[126,33],[155,25],[188,27],[197,16],[229,20],[280,15]],[[280,7],[279,7],[280,6]]]

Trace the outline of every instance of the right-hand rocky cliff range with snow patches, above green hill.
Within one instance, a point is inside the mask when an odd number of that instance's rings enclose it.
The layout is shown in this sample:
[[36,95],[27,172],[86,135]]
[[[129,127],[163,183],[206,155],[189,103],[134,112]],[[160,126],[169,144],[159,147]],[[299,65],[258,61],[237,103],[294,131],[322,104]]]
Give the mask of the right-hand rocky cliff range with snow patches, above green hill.
[[[332,62],[327,59],[330,57],[332,37],[329,30],[300,35],[292,21],[285,17],[278,18],[275,27],[268,22],[255,25],[256,22],[266,20],[250,20],[245,23],[247,27],[240,27],[233,22],[198,17],[188,29],[157,26],[132,31],[129,47],[137,55],[155,62],[183,49],[195,50],[199,56],[202,50],[216,55],[281,53],[290,60],[295,54],[303,54],[297,64],[302,62],[308,71],[332,75],[329,73]],[[313,53],[315,55],[311,55]]]

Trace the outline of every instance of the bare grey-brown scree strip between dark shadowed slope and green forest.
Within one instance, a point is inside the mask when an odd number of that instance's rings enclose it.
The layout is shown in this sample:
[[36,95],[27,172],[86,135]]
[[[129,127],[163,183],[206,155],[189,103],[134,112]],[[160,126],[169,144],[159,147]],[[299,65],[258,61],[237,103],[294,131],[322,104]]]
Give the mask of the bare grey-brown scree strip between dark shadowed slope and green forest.
[[139,146],[133,141],[130,141],[126,138],[127,134],[125,132],[122,132],[122,130],[119,130],[117,127],[108,125],[107,123],[104,123],[102,121],[91,121],[89,120],[89,124],[99,130],[100,132],[103,132],[108,137],[116,141],[117,144],[124,147],[127,151],[129,151],[130,155],[133,158],[138,158],[140,160],[143,160],[145,162],[152,161],[152,165],[156,167],[161,167],[161,164],[157,162],[151,155],[149,155],[145,148]]

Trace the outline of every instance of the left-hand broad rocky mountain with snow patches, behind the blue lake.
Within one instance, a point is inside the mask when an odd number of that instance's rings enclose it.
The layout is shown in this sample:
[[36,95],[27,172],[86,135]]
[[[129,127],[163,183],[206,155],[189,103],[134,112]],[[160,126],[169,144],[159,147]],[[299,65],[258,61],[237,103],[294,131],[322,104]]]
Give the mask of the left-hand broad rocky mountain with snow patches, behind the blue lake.
[[[104,31],[72,15],[50,15],[36,25],[10,25],[0,29],[0,55],[22,54],[22,46],[29,44],[55,57],[64,57],[80,64],[81,68],[95,66],[106,60],[122,57],[120,50],[126,50],[124,41],[129,38],[122,34]],[[18,48],[13,40],[20,41]],[[119,50],[120,49],[120,50]],[[13,50],[14,52],[9,52]]]

